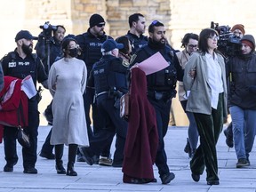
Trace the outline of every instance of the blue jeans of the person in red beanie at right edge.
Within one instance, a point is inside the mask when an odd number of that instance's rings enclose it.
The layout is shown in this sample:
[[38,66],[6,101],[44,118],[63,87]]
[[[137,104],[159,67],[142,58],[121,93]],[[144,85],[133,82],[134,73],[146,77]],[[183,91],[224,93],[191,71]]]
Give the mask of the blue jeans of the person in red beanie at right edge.
[[256,132],[256,110],[232,106],[229,111],[237,159],[249,157]]

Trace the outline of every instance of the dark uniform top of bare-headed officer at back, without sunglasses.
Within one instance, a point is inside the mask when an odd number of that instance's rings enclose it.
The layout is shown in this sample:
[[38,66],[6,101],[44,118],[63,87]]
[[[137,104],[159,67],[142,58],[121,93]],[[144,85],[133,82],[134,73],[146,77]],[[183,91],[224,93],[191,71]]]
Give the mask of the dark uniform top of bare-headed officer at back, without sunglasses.
[[132,54],[138,51],[141,47],[148,44],[148,36],[140,35],[136,36],[132,34],[130,31],[127,32],[126,36],[129,38],[132,45]]

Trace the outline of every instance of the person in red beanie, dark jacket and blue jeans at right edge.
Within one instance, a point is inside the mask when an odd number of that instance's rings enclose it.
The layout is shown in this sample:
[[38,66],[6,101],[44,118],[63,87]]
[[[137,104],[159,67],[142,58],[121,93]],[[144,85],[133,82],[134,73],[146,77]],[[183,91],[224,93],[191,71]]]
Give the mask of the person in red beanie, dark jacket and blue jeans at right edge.
[[228,108],[232,117],[236,168],[250,165],[256,129],[256,54],[252,35],[241,38],[240,53],[227,63]]

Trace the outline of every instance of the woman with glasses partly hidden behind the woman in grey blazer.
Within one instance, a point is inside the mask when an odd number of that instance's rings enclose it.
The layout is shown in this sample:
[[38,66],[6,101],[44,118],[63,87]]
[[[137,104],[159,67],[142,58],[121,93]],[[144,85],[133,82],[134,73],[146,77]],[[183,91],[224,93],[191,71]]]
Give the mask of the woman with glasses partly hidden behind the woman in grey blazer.
[[[198,35],[193,33],[187,33],[181,41],[181,47],[184,47],[184,50],[181,52],[177,52],[176,55],[178,60],[180,61],[181,68],[185,68],[186,63],[188,62],[189,57],[193,52],[197,51],[197,44],[198,44]],[[186,111],[187,105],[187,95],[183,87],[183,82],[179,81],[179,100],[182,108],[184,109],[186,115],[188,116],[188,139],[187,145],[184,148],[184,151],[188,153],[188,156],[191,158],[194,156],[196,151],[196,146],[198,142],[198,132],[196,127],[196,121],[194,118],[193,113]]]

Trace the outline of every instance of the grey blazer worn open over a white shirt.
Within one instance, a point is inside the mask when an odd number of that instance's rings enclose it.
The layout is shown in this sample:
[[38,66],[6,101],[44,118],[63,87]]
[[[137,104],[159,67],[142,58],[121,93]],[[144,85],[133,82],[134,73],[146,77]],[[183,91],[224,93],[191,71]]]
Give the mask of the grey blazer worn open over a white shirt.
[[[226,71],[225,62],[220,54],[218,55],[218,62],[221,68],[221,79],[224,89],[224,106],[223,117],[228,115],[227,113],[227,83],[226,83]],[[193,79],[188,75],[190,69],[196,68],[196,77]],[[211,105],[211,88],[208,82],[207,76],[207,64],[206,57],[201,53],[195,52],[188,60],[185,67],[183,84],[186,91],[190,91],[188,97],[188,103],[186,110],[194,113],[202,113],[206,115],[212,114]]]

